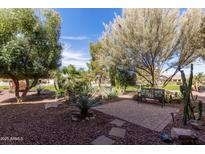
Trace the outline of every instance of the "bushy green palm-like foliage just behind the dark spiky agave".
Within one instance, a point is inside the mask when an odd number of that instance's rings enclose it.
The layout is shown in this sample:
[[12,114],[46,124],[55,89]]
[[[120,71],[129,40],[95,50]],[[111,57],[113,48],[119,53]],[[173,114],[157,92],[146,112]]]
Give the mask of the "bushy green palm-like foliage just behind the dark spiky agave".
[[86,71],[77,70],[73,65],[53,72],[57,96],[64,96],[69,99],[69,102],[76,102],[77,96],[89,90],[90,80],[88,75]]

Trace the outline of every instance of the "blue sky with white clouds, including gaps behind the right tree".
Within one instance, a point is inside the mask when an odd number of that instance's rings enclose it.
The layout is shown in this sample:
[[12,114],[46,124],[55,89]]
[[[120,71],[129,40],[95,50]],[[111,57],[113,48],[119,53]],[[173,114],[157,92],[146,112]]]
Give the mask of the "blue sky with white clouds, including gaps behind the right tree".
[[[104,30],[103,23],[113,21],[115,14],[121,15],[122,9],[55,9],[62,18],[61,42],[64,44],[62,65],[75,65],[86,68],[89,62],[89,43],[95,42]],[[186,11],[186,9],[181,9]],[[194,65],[194,73],[205,72],[205,65]],[[171,74],[170,70],[166,74]],[[189,73],[189,69],[185,69]]]

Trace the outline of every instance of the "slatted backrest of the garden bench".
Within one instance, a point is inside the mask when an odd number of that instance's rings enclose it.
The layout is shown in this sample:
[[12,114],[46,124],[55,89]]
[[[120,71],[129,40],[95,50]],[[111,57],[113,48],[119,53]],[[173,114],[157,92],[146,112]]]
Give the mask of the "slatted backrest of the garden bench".
[[142,88],[141,96],[148,98],[163,98],[165,90],[157,88]]

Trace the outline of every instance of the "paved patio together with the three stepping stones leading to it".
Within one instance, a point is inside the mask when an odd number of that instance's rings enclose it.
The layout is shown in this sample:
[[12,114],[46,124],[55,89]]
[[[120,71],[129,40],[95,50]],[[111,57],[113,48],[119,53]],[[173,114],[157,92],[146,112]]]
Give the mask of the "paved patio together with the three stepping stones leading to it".
[[[163,130],[163,128],[172,120],[171,113],[179,111],[177,108],[173,107],[165,106],[161,108],[161,106],[156,104],[138,104],[136,101],[132,100],[112,102],[95,107],[95,109],[155,131]],[[120,127],[123,126],[125,121],[114,119],[110,123],[117,127],[113,126],[111,128],[109,136],[124,138],[126,129]],[[102,135],[92,141],[91,144],[110,145],[114,142],[115,141],[109,137]]]

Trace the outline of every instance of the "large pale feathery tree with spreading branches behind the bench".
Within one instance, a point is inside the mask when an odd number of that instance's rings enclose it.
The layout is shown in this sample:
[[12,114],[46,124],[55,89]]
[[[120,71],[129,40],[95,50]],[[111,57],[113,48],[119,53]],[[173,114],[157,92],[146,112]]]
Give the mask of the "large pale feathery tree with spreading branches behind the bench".
[[124,9],[100,39],[99,59],[108,67],[132,68],[152,87],[169,69],[179,71],[197,58],[192,40],[199,30],[200,9]]

